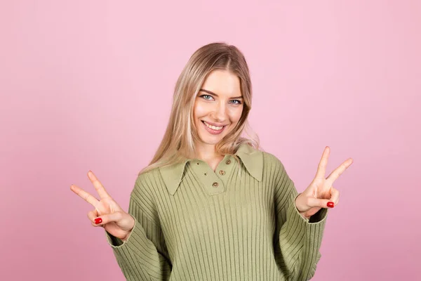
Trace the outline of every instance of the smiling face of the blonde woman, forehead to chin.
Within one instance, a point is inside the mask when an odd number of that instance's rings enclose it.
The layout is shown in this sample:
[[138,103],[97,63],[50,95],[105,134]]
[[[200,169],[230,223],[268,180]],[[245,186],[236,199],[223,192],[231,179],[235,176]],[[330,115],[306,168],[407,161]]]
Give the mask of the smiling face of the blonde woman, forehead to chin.
[[210,72],[194,102],[194,124],[201,144],[219,143],[239,122],[241,112],[239,77],[227,70]]

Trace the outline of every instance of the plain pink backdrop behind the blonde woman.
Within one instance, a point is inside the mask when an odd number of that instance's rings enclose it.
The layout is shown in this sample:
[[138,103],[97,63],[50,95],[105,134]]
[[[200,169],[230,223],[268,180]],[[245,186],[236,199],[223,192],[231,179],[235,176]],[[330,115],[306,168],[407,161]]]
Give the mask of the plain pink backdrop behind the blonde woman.
[[249,63],[250,124],[299,191],[335,182],[313,280],[415,280],[421,256],[420,1],[1,1],[0,280],[124,280],[72,183],[127,210],[189,56]]

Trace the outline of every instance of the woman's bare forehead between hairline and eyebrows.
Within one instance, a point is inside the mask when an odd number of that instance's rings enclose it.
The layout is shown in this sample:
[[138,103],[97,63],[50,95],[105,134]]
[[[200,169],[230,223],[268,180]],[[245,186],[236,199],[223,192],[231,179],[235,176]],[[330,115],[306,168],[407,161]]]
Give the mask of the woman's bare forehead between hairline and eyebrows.
[[228,70],[213,70],[208,74],[201,88],[213,91],[218,96],[241,96],[240,79]]

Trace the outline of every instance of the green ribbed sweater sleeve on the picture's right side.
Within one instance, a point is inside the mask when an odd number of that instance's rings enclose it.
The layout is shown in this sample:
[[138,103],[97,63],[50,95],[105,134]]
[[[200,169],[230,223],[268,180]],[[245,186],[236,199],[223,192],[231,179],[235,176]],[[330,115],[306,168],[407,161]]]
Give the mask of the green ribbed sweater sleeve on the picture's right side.
[[[274,169],[276,211],[276,260],[286,280],[310,280],[321,258],[320,247],[328,209],[322,208],[309,220],[295,207],[298,192],[283,164],[277,159]],[[279,231],[279,232],[278,232]]]

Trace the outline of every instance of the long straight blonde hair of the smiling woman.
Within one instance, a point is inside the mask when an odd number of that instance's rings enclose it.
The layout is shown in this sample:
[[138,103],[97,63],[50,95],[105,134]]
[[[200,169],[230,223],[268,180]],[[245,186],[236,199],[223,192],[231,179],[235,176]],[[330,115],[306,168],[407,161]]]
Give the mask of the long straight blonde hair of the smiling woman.
[[193,119],[193,108],[196,95],[201,89],[208,74],[213,70],[228,70],[240,79],[241,93],[243,95],[243,112],[238,124],[220,143],[215,150],[220,155],[234,155],[239,146],[248,143],[259,149],[259,138],[241,136],[250,130],[248,113],[251,110],[251,81],[248,65],[243,53],[236,46],[215,42],[202,46],[190,57],[175,84],[173,106],[166,132],[152,161],[139,175],[163,166],[170,166],[195,157],[195,141],[199,139]]

